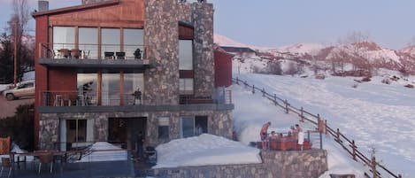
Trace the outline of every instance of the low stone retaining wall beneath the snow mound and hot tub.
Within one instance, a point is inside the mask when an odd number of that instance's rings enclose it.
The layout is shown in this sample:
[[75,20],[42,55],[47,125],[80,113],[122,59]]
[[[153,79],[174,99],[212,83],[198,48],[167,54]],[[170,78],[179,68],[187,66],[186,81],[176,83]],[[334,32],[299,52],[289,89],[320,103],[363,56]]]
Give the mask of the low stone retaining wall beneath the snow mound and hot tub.
[[159,168],[145,175],[157,178],[317,178],[327,171],[327,151],[262,151],[263,163]]

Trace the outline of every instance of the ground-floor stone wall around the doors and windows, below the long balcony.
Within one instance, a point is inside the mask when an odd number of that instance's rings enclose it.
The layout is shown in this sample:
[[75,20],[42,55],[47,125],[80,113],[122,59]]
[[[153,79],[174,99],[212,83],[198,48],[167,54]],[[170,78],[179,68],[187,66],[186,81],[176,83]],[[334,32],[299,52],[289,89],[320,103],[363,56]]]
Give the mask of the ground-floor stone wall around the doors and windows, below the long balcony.
[[[181,116],[208,116],[208,133],[232,138],[233,121],[230,112],[227,111],[198,111],[198,112],[84,112],[84,113],[42,113],[40,148],[44,150],[54,149],[54,143],[60,142],[60,120],[94,120],[94,142],[108,140],[108,122],[110,118],[147,118],[146,140],[149,145],[158,145],[170,140],[180,138]],[[169,139],[158,139],[158,118],[169,118]],[[88,129],[88,128],[87,128]],[[51,142],[50,142],[51,141]]]

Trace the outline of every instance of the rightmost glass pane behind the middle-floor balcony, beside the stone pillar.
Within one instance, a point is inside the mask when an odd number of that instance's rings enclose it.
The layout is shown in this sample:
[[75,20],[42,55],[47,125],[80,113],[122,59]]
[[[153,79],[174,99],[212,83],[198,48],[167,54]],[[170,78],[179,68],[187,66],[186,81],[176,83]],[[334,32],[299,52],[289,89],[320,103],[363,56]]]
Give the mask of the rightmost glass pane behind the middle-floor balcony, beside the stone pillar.
[[134,91],[140,89],[142,96],[144,90],[143,74],[124,74],[124,104],[134,104]]

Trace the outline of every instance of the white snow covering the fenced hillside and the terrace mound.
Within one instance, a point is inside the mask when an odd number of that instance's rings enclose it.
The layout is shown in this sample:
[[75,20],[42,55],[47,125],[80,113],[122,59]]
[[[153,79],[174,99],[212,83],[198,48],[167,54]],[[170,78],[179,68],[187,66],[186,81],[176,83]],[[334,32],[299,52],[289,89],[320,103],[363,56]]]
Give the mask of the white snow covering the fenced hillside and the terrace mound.
[[[319,113],[328,120],[330,127],[340,128],[344,135],[354,139],[359,151],[367,157],[370,158],[374,149],[377,160],[393,173],[402,174],[403,177],[415,174],[412,170],[415,165],[415,130],[412,129],[415,127],[415,89],[403,88],[399,82],[383,84],[380,82],[382,77],[374,77],[373,81],[358,83],[357,88],[352,88],[354,78],[328,77],[326,80],[316,80],[234,74],[236,76],[260,89],[287,98],[295,106],[304,106],[309,112]],[[235,84],[230,89],[235,105],[234,129],[243,145],[259,140],[259,130],[266,121],[273,123],[269,130],[277,132],[287,132],[296,123],[302,128],[311,129],[310,124],[299,122],[296,114],[286,114],[261,94],[253,95],[251,89]],[[226,146],[221,151],[217,142],[206,142],[202,137],[178,139],[160,145],[157,148],[160,156],[158,166],[155,167],[234,164],[234,159],[241,159],[237,156],[239,152],[247,149],[242,145],[234,148],[232,154],[222,154],[227,152]],[[328,178],[329,174],[356,174],[363,178],[365,172],[369,173],[368,167],[351,159],[349,153],[333,141],[333,137],[324,136],[323,143],[323,148],[328,152],[329,170],[321,178]],[[255,156],[248,156],[254,152],[244,156],[241,162],[249,162],[246,159],[254,162]]]

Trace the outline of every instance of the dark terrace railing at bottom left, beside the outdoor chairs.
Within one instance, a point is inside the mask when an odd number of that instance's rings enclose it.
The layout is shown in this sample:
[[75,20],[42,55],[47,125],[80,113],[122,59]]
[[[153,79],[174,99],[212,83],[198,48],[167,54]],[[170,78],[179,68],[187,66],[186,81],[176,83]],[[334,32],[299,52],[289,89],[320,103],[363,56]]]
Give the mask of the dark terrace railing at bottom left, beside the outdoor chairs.
[[[43,162],[42,155],[52,159]],[[12,177],[134,177],[129,150],[12,152],[10,157]]]

